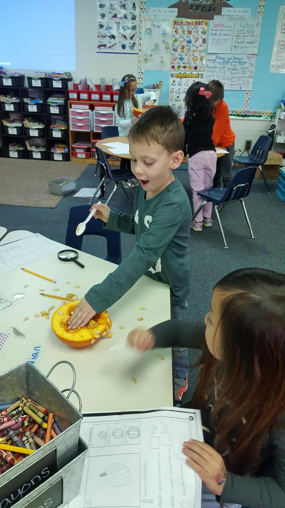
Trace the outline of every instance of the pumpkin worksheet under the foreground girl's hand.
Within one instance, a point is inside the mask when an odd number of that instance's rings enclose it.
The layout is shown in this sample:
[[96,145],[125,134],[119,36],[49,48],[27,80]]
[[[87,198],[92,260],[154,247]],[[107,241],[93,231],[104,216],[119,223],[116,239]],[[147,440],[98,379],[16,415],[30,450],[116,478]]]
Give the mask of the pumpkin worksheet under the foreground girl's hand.
[[200,411],[159,408],[83,417],[88,444],[80,494],[68,508],[200,508],[201,480],[182,453],[203,441]]

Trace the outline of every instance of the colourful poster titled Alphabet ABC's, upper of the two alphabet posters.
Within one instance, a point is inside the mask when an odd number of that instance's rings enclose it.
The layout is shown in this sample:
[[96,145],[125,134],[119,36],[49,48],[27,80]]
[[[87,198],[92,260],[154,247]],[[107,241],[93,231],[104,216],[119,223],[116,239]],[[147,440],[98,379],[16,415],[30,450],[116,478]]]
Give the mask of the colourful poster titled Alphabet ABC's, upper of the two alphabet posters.
[[204,71],[208,21],[174,19],[171,71]]

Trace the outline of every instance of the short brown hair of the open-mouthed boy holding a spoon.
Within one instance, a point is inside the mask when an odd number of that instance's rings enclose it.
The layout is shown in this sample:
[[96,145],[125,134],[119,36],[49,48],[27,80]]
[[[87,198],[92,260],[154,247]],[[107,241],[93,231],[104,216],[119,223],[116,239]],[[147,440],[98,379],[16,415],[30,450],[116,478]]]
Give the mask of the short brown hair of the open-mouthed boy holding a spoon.
[[136,143],[157,143],[167,153],[183,150],[184,127],[170,106],[155,106],[142,114],[132,125],[129,140]]

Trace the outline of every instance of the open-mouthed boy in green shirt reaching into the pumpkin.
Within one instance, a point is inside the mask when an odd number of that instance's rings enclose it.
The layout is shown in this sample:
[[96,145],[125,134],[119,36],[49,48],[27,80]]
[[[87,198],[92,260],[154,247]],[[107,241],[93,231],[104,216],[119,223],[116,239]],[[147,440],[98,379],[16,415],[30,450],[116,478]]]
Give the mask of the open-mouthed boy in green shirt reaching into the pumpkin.
[[[183,160],[184,128],[169,106],[141,115],[129,133],[131,170],[139,180],[134,215],[115,213],[107,205],[93,205],[95,218],[112,231],[134,234],[130,255],[100,284],[95,284],[74,310],[69,328],[85,326],[95,313],[117,302],[142,276],[169,284],[172,317],[182,316],[191,283],[188,246],[191,207],[172,169]],[[175,399],[187,389],[187,349],[174,351]]]

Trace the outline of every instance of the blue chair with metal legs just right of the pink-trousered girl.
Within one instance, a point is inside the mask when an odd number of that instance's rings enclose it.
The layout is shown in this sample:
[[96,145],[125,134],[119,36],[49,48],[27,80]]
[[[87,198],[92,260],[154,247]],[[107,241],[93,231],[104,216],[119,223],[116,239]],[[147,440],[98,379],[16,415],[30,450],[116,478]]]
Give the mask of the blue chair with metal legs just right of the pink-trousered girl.
[[[224,240],[225,249],[228,248],[226,243],[226,238],[223,230],[223,226],[220,219],[220,210],[223,206],[227,205],[228,203],[233,203],[235,201],[240,201],[246,223],[248,228],[251,232],[251,238],[254,238],[253,230],[251,227],[250,219],[248,218],[247,211],[245,208],[245,204],[243,201],[243,198],[246,198],[248,194],[250,193],[253,179],[255,176],[256,168],[244,168],[240,169],[236,175],[233,177],[231,183],[227,188],[220,188],[220,187],[211,187],[208,189],[199,190],[197,193],[198,196],[201,196],[204,198],[204,201],[201,203],[199,208],[196,210],[194,215],[192,216],[191,220],[194,220],[196,215],[199,213],[199,211],[205,206],[206,203],[211,201],[213,204],[215,204],[215,214],[218,220],[219,228],[221,235]],[[219,209],[220,207],[220,209]]]

